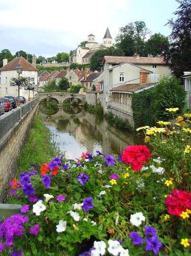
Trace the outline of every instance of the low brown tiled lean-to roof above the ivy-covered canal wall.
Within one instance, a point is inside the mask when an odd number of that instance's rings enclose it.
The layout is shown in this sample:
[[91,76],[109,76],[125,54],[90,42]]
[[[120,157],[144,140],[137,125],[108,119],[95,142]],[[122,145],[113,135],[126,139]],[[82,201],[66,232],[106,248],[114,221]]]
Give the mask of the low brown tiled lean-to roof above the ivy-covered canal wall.
[[119,85],[117,87],[112,88],[110,91],[111,92],[128,92],[128,93],[132,93],[132,92],[138,92],[139,90],[143,90],[143,89],[149,89],[154,87],[156,83],[149,83],[149,84],[127,84],[127,85]]

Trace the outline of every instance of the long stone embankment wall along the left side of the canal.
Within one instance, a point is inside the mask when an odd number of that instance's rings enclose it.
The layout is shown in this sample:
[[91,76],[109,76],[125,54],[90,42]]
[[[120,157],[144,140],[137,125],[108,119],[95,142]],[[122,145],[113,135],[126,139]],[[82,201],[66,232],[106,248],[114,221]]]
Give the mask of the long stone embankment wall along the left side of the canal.
[[8,185],[17,171],[17,159],[36,114],[37,103],[38,98],[33,99],[0,117],[0,203],[6,201]]

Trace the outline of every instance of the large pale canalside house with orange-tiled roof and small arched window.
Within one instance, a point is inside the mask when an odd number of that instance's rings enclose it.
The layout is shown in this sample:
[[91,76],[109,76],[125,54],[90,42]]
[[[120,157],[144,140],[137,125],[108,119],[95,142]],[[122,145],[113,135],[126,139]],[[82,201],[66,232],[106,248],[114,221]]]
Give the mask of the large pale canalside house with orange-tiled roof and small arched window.
[[140,70],[147,77],[146,84],[156,83],[161,75],[170,75],[170,69],[161,57],[104,56],[104,112],[108,112],[110,90],[126,84],[140,83]]

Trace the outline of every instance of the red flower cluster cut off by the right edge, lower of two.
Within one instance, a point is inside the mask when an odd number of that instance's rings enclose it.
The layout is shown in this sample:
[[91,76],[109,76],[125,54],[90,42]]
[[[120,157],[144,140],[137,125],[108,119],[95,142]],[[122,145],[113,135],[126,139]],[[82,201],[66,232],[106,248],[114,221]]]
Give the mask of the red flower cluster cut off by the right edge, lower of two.
[[180,216],[186,209],[191,210],[191,192],[174,189],[166,198],[165,204],[169,214]]

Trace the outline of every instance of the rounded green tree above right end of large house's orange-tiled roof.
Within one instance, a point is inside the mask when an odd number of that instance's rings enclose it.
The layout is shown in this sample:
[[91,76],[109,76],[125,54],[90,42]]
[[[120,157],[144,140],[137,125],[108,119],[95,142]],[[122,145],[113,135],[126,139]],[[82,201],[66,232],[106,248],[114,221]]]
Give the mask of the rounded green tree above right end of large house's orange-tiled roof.
[[168,46],[168,37],[161,35],[160,33],[155,33],[154,35],[151,35],[147,42],[145,42],[145,56],[148,54],[152,54],[153,56],[156,56],[157,54],[161,55],[168,49]]

